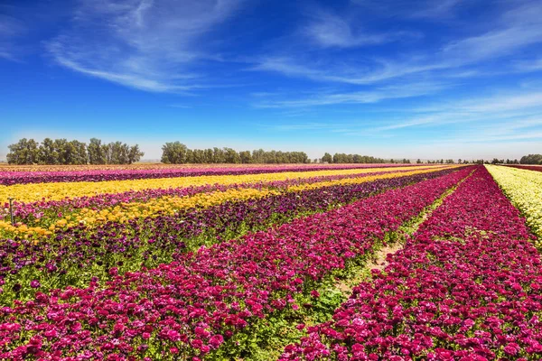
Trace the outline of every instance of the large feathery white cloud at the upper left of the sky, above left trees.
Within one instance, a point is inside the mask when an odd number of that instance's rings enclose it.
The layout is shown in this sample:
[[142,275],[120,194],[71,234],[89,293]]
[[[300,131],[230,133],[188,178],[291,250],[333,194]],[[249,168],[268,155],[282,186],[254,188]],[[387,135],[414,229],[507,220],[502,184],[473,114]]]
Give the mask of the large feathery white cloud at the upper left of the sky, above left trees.
[[201,39],[239,3],[83,0],[71,29],[46,47],[60,65],[91,77],[145,91],[185,92],[202,87],[194,61],[214,57]]

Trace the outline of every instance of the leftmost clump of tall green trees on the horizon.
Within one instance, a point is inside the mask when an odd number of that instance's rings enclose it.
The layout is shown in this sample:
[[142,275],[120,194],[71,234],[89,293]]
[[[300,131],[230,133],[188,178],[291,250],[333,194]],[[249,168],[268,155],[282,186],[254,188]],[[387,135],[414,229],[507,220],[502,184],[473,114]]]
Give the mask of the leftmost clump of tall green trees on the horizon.
[[145,155],[137,144],[102,143],[97,138],[89,144],[64,138],[45,138],[42,143],[23,138],[8,148],[10,164],[131,164]]

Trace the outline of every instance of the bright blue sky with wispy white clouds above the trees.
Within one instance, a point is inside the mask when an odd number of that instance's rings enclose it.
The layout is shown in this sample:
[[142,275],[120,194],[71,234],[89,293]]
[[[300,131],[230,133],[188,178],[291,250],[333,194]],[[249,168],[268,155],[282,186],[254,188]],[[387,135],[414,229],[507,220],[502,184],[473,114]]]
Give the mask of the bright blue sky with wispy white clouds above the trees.
[[542,153],[542,2],[4,0],[21,137],[396,158]]

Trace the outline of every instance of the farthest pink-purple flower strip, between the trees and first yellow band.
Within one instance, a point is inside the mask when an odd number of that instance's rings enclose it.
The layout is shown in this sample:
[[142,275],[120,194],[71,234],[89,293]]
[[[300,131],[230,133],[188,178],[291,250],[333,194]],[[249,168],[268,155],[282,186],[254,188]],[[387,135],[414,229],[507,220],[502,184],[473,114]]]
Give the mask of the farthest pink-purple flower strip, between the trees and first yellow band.
[[[402,166],[405,166],[404,164]],[[156,178],[199,177],[202,175],[260,174],[283,171],[331,171],[397,167],[397,164],[278,165],[245,167],[192,167],[152,169],[110,169],[77,171],[0,171],[0,185],[70,181],[144,180]]]

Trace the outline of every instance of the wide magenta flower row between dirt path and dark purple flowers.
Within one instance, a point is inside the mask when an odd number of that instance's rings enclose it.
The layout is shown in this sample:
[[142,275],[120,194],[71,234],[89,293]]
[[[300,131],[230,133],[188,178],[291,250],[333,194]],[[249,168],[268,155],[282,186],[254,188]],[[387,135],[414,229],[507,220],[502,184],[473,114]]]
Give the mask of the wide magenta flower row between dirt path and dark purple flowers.
[[[201,247],[172,264],[93,280],[88,288],[38,292],[0,309],[0,358],[199,359],[269,315],[311,307],[335,270],[415,218],[469,174],[455,171],[266,232]],[[38,286],[38,284],[34,284]],[[239,338],[237,338],[239,339]],[[214,351],[219,352],[219,351]]]

